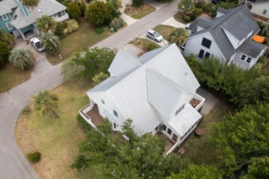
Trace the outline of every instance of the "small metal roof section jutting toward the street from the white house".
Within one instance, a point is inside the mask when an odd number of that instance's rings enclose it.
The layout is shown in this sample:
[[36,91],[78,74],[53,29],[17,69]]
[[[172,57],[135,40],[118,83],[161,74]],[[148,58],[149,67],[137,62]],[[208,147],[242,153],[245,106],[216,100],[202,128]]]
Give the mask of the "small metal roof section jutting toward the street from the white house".
[[108,68],[108,72],[110,72],[110,76],[118,76],[141,65],[142,63],[135,56],[119,50]]

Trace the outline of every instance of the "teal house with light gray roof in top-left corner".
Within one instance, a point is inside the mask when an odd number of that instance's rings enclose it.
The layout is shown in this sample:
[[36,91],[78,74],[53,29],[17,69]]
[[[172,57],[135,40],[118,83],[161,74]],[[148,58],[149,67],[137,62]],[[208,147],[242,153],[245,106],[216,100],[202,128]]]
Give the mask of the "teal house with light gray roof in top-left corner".
[[56,21],[69,20],[66,6],[55,0],[40,0],[34,10],[26,8],[21,0],[0,0],[0,28],[12,32],[15,37],[21,36],[23,40],[30,35],[39,35],[36,21],[43,15]]

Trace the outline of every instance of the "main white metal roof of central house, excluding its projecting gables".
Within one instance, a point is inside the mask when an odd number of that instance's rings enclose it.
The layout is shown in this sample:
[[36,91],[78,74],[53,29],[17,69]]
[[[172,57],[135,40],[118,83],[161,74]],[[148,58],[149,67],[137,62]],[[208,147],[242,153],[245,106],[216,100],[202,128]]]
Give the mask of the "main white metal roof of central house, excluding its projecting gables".
[[[197,79],[183,59],[177,45],[168,45],[141,57],[143,65],[140,67],[120,74],[114,79],[108,78],[99,84],[100,87],[97,85],[87,92],[88,96],[94,92],[106,92],[123,118],[132,118],[138,135],[152,131],[161,123],[161,118],[148,103],[147,70],[168,78],[171,83],[184,87],[185,92],[191,94],[199,87]],[[188,72],[187,76],[186,72]]]

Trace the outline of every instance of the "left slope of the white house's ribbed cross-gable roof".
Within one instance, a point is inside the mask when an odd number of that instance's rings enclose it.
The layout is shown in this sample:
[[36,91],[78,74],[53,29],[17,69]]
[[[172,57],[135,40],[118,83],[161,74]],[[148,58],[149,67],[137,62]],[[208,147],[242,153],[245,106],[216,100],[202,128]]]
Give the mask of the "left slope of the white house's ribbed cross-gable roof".
[[148,102],[167,119],[184,95],[185,89],[170,81],[170,79],[146,69]]

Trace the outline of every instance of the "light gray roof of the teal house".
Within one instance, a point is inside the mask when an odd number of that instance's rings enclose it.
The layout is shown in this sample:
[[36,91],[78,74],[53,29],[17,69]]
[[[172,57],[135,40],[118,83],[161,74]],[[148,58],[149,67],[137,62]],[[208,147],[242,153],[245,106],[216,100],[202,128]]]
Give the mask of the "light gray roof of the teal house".
[[[38,9],[41,10],[41,12],[38,12],[37,11]],[[20,8],[14,10],[14,12],[12,13],[12,21],[10,21],[10,23],[15,28],[17,29],[26,28],[28,25],[36,21],[36,17],[38,19],[43,15],[51,16],[57,12],[66,10],[66,6],[63,6],[61,3],[55,0],[40,0],[37,8],[34,8],[34,10],[28,8],[27,10],[30,14],[27,17],[23,14],[23,11]],[[16,19],[14,19],[15,15],[17,15]]]

